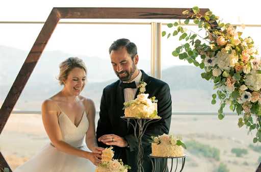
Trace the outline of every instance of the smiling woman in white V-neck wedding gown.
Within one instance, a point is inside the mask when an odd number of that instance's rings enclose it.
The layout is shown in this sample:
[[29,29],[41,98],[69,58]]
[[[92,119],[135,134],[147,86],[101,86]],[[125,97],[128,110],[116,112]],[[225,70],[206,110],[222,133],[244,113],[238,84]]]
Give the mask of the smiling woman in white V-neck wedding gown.
[[101,162],[103,148],[97,146],[94,103],[80,95],[86,84],[84,62],[76,57],[62,62],[59,81],[63,89],[42,104],[50,143],[15,172],[91,172]]

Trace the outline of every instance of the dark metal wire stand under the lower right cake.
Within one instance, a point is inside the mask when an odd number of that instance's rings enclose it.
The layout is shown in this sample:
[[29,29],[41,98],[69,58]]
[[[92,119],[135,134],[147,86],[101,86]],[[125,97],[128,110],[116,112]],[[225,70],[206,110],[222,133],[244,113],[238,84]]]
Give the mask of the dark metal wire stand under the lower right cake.
[[[179,170],[179,172],[181,172],[184,168],[187,155],[184,155],[181,157],[156,157],[156,156],[152,156],[152,154],[150,154],[150,155],[148,155],[148,157],[150,158],[150,161],[152,163],[152,172],[155,172],[155,171],[166,172],[168,169],[168,159],[171,159],[171,168],[170,168],[169,172],[172,172],[173,163],[174,163],[174,165],[176,164],[175,170],[173,172],[176,172],[177,165],[178,165],[178,159],[181,159],[181,168]],[[159,161],[160,159],[164,159],[163,171],[160,171],[160,161]],[[174,161],[176,161],[176,163]]]

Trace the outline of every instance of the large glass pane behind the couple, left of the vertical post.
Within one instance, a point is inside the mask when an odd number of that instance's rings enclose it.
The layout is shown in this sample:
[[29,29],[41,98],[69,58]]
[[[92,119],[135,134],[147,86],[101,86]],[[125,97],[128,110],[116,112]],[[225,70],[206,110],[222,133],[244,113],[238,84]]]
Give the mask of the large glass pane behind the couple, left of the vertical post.
[[[10,47],[9,50],[4,52],[6,58],[1,59],[1,61],[4,61],[1,63],[3,65],[1,67],[5,71],[1,74],[1,80],[4,79],[3,75],[8,75],[8,78],[5,79],[8,81],[0,83],[1,87],[3,87],[0,96],[1,102],[4,101],[21,64],[29,52],[28,50],[31,49],[41,28],[39,24],[18,24],[18,26],[8,24],[8,27],[5,24],[2,25],[6,27],[6,30],[22,28],[23,32],[16,33],[18,36],[21,35],[19,41],[15,39],[13,41],[8,40],[10,35],[4,34],[3,39],[0,41],[0,44]],[[20,25],[22,26],[20,27]],[[35,29],[31,34],[34,28],[32,27],[28,31],[27,28],[32,25],[38,29]],[[15,109],[40,110],[43,100],[62,89],[56,80],[59,73],[59,64],[66,58],[75,56],[82,58],[88,68],[88,84],[82,95],[93,99],[98,109],[102,89],[117,80],[109,56],[111,43],[123,37],[136,43],[139,54],[138,68],[150,73],[150,35],[150,25],[144,24],[59,24],[19,97]],[[8,42],[5,43],[4,40],[8,40]],[[23,42],[23,40],[26,41]],[[14,54],[14,48],[21,48],[22,56]],[[15,65],[18,66],[17,68],[15,66],[9,67],[10,58],[8,57],[11,55],[14,56],[13,61],[20,64]],[[17,60],[19,58],[20,61]]]

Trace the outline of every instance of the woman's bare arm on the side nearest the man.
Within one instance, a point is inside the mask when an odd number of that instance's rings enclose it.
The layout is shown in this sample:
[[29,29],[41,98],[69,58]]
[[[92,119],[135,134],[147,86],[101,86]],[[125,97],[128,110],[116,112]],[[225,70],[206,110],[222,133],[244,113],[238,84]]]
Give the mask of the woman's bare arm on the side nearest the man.
[[85,100],[85,102],[87,107],[87,117],[89,120],[89,129],[86,132],[86,144],[92,152],[101,154],[101,151],[104,149],[98,147],[97,139],[95,136],[95,106],[93,101],[90,99]]

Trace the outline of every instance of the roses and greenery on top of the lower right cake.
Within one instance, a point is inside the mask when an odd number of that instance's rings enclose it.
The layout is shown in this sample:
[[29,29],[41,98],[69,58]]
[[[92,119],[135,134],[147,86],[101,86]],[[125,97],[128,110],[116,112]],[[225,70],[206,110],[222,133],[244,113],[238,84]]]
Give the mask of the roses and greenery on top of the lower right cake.
[[172,134],[170,135],[163,134],[158,137],[151,136],[151,139],[152,139],[151,141],[152,143],[157,143],[157,144],[165,143],[165,144],[179,145],[187,149],[186,145],[181,141],[182,140],[181,136],[174,136]]

